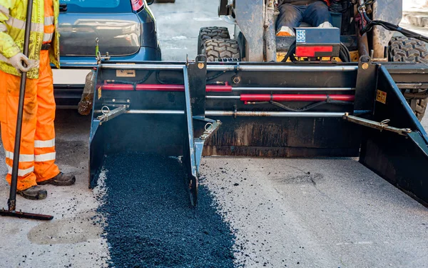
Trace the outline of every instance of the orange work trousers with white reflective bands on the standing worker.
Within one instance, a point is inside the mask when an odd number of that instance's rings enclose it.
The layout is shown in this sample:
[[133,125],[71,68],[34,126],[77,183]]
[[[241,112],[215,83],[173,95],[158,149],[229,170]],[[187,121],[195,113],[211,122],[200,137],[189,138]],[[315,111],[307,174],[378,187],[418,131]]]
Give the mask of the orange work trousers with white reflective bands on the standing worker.
[[[0,71],[1,140],[6,152],[6,181],[9,184],[14,159],[20,82],[19,76]],[[36,186],[37,182],[59,174],[55,164],[54,83],[47,50],[41,51],[39,79],[26,80],[22,118],[18,191]]]

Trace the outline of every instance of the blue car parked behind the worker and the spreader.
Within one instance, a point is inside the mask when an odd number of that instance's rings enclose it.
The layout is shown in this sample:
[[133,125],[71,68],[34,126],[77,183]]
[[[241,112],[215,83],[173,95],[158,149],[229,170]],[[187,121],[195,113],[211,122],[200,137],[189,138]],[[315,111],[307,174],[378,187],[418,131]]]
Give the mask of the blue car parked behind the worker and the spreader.
[[[96,66],[98,39],[102,56],[120,61],[158,61],[161,48],[153,0],[60,0],[58,31],[61,69],[54,69],[58,109],[76,107],[85,77]],[[130,75],[118,72],[118,77]],[[132,75],[132,74],[131,74]]]

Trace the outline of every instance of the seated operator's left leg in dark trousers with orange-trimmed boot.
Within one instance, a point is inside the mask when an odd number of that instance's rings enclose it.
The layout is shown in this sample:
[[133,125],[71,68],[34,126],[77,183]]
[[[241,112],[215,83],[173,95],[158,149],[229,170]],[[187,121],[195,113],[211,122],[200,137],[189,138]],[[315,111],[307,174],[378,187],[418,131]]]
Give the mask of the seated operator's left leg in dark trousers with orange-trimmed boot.
[[295,36],[294,28],[302,22],[305,7],[282,4],[278,9],[280,16],[277,19],[277,36]]

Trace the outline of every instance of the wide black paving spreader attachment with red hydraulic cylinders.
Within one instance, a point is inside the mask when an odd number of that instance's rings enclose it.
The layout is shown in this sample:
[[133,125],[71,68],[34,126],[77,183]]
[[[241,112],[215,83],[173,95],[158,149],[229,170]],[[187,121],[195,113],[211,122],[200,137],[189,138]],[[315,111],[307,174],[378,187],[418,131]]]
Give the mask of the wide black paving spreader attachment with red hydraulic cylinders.
[[[323,36],[305,30],[308,41]],[[325,46],[340,50],[337,40]],[[359,157],[428,204],[428,134],[402,94],[427,84],[426,64],[367,55],[358,62],[97,59],[89,187],[103,157],[123,152],[181,157],[194,206],[203,155]],[[121,71],[133,75],[117,76]]]

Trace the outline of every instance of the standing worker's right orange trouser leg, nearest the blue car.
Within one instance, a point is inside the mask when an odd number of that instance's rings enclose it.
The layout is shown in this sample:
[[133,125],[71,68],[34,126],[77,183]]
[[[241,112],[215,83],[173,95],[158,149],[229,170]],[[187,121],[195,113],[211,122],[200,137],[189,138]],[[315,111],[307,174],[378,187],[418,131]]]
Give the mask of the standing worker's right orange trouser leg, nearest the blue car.
[[37,182],[52,179],[59,174],[55,164],[55,99],[49,51],[40,52],[39,82],[37,83],[37,116],[34,136],[34,173]]

